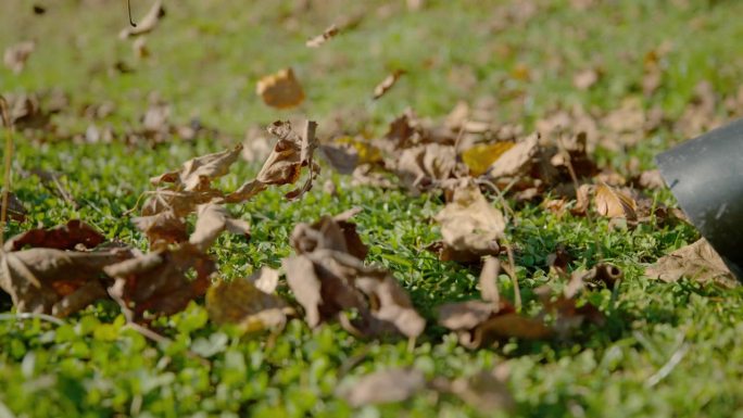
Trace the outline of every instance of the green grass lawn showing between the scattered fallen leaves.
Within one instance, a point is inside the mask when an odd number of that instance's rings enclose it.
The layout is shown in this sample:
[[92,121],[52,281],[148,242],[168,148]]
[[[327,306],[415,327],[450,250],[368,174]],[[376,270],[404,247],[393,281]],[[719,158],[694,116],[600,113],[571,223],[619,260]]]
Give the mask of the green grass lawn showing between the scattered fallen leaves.
[[[0,68],[0,92],[60,88],[70,94],[71,109],[55,123],[84,132],[91,122],[76,111],[83,104],[113,101],[116,111],[103,123],[121,131],[139,125],[148,96],[156,91],[173,105],[176,122],[198,115],[227,135],[196,142],[175,139],[154,149],[74,144],[53,136],[39,144],[18,135],[14,166],[64,173],[80,205],[71,207],[37,179],[16,175],[13,189],[30,214],[23,224],[11,223],[7,235],[79,217],[111,239],[143,249],[143,236],[124,213],[148,189],[149,177],[235,143],[249,127],[277,118],[326,121],[339,114],[349,131],[380,134],[406,106],[439,118],[457,100],[495,97],[499,121],[531,127],[557,104],[612,110],[627,97],[639,97],[647,109],[660,105],[675,119],[700,81],[728,94],[743,79],[743,26],[734,17],[743,15],[741,2],[599,1],[583,12],[568,1],[538,3],[542,11],[527,23],[493,31],[492,16],[506,2],[431,1],[423,11],[408,12],[403,2],[382,8],[376,1],[329,1],[303,14],[293,12],[292,2],[166,2],[168,15],[148,36],[153,56],[137,62],[129,42],[116,38],[126,24],[123,2],[48,2],[47,13],[34,16],[30,1],[7,0],[0,46],[28,38],[38,46],[21,75]],[[133,7],[141,15],[149,2],[134,0]],[[304,47],[306,38],[336,18],[356,13],[365,14],[354,30],[318,50]],[[664,84],[643,98],[644,54],[663,41],[673,45],[662,63]],[[554,69],[550,63],[557,59],[563,65]],[[127,62],[135,73],[109,75],[116,61]],[[604,72],[597,86],[575,89],[572,74],[592,64]],[[308,99],[299,110],[278,112],[260,102],[254,84],[287,65],[297,71]],[[517,65],[530,68],[530,80],[513,78]],[[372,101],[374,86],[396,67],[408,75],[388,96]],[[474,83],[455,83],[463,78]],[[656,152],[681,139],[662,129],[637,148],[600,150],[597,157],[621,168],[637,156],[651,167]],[[257,168],[237,163],[222,181],[235,188]],[[252,239],[218,240],[212,251],[222,275],[277,267],[292,253],[288,236],[297,223],[361,206],[357,223],[370,246],[368,261],[393,271],[429,320],[413,350],[405,341],[360,341],[335,325],[312,331],[299,319],[273,341],[247,339],[210,324],[203,303],[161,319],[158,325],[173,343],[160,345],[123,329],[113,303],[90,306],[62,326],[0,317],[0,416],[3,405],[18,417],[471,416],[476,411],[461,401],[426,392],[402,404],[355,410],[333,393],[339,384],[389,367],[413,366],[429,377],[455,378],[502,363],[511,368],[518,416],[743,416],[743,290],[642,277],[644,264],[694,241],[692,227],[650,224],[608,230],[606,221],[558,219],[534,205],[516,206],[518,225],[509,227],[507,239],[517,250],[525,309],[536,307],[531,290],[547,282],[546,256],[561,243],[575,257],[571,268],[610,261],[624,269],[625,280],[616,299],[607,290],[587,296],[607,316],[601,328],[583,327],[567,340],[514,340],[467,351],[433,325],[433,306],[477,295],[476,269],[441,263],[424,251],[440,237],[431,217],[442,207],[441,197],[353,188],[327,167],[318,185],[326,179],[340,186],[338,197],[318,186],[303,200],[286,202],[280,190],[270,190],[231,207],[250,220]],[[655,198],[673,204],[667,190]],[[500,280],[502,292],[513,295],[507,277]],[[0,315],[11,311],[4,300],[0,307]],[[209,365],[189,357],[188,350]],[[651,385],[675,353],[685,354]]]

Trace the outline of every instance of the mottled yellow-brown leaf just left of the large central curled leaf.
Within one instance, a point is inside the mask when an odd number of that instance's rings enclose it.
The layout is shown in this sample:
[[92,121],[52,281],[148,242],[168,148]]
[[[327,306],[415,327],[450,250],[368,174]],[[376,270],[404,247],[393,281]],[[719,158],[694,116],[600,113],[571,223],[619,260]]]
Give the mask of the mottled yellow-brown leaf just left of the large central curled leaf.
[[278,279],[278,271],[264,267],[250,278],[212,284],[206,291],[210,318],[216,324],[237,324],[244,332],[284,327],[293,309],[273,290],[266,292],[257,286],[265,287],[273,277]]

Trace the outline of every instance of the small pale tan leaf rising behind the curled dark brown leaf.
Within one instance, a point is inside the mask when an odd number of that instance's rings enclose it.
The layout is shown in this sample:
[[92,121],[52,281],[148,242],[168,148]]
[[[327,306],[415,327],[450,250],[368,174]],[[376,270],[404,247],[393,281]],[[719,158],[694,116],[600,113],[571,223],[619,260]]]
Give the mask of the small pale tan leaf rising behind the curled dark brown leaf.
[[206,203],[199,206],[196,229],[188,241],[203,252],[225,230],[250,237],[250,224],[234,219],[224,206]]

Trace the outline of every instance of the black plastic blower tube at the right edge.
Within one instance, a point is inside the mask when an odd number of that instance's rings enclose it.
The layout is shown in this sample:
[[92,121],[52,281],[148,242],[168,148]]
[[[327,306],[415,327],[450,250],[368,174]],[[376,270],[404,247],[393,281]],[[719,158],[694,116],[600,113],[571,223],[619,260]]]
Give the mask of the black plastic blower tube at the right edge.
[[743,281],[743,119],[655,161],[683,212]]

